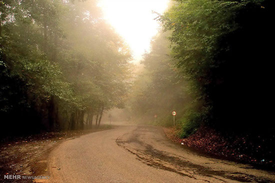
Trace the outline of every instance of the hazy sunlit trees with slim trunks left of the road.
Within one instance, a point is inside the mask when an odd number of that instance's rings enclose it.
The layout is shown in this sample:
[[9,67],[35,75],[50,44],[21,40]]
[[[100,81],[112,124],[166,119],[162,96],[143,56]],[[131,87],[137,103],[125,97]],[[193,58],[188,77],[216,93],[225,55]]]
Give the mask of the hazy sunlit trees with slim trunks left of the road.
[[123,107],[129,59],[95,0],[1,0],[1,133],[99,126]]

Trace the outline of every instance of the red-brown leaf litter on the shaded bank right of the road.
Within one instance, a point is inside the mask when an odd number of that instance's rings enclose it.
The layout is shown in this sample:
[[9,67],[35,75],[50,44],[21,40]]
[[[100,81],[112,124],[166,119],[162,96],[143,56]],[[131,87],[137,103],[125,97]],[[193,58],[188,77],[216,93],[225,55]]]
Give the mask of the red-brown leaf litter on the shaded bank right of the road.
[[263,168],[275,168],[274,134],[251,138],[222,135],[209,127],[200,127],[193,135],[180,139],[176,128],[163,128],[163,131],[167,138],[188,147]]

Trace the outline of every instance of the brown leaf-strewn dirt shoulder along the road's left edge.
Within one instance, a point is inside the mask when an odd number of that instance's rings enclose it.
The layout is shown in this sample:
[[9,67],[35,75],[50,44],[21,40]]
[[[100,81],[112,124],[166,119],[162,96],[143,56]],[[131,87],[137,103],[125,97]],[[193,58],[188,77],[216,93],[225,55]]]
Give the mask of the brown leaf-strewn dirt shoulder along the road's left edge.
[[[32,179],[34,176],[50,176],[47,170],[49,153],[62,142],[82,135],[116,128],[102,125],[98,129],[49,132],[26,137],[16,137],[0,145],[0,182],[3,183],[45,183],[46,179]],[[20,179],[4,179],[16,175]],[[29,179],[22,179],[28,176]],[[33,176],[33,177],[32,177]],[[18,177],[17,177],[18,178]]]

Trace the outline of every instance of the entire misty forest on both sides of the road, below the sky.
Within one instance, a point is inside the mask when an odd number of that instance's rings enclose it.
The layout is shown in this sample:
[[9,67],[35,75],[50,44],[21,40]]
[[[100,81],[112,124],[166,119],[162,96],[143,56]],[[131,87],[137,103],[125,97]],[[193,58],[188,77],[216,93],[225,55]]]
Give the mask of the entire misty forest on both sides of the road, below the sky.
[[137,69],[96,0],[1,0],[1,137],[98,128],[114,108],[169,127],[176,111],[178,137],[209,127],[270,158],[274,7],[173,0]]

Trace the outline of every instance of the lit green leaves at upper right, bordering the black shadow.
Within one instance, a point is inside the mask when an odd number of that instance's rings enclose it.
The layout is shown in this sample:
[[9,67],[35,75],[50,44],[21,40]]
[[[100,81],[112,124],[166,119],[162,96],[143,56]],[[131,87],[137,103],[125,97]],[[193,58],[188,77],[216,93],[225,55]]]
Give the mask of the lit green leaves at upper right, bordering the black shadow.
[[233,13],[245,2],[220,0],[184,0],[173,5],[158,20],[165,30],[172,30],[171,55],[185,78],[205,92],[209,70],[218,67],[214,60],[219,53],[220,37],[234,31],[238,25]]

